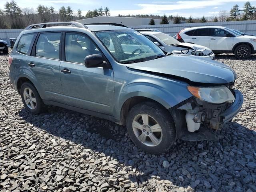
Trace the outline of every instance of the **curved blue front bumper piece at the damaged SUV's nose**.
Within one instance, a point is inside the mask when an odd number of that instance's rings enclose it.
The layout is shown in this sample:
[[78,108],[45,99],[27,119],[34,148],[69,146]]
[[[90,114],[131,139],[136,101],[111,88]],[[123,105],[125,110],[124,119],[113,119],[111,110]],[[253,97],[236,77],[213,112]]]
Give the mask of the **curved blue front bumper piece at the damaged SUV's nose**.
[[235,90],[235,97],[236,100],[234,101],[234,103],[225,112],[220,114],[220,123],[226,123],[232,120],[232,118],[234,118],[242,108],[244,96],[240,91]]

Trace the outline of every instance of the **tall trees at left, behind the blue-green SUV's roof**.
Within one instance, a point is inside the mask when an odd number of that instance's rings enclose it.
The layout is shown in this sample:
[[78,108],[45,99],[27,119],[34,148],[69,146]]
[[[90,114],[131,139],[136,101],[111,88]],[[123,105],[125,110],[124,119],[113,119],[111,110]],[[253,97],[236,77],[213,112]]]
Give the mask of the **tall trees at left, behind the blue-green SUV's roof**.
[[70,6],[62,6],[59,10],[55,10],[53,6],[47,7],[40,4],[36,10],[21,9],[14,0],[11,0],[4,4],[4,10],[0,9],[0,29],[23,29],[35,23],[74,21],[96,16],[110,16],[110,9],[100,7],[89,10],[86,15],[83,15],[82,10],[74,11]]

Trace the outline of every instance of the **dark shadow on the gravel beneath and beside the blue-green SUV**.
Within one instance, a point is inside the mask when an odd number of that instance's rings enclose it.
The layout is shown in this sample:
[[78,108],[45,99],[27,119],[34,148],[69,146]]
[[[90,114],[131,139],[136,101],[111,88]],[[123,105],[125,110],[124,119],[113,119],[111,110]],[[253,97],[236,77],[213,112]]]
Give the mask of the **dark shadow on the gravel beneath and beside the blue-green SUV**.
[[[178,140],[168,153],[154,155],[138,149],[124,126],[108,120],[53,106],[39,115],[23,108],[18,115],[49,134],[116,160],[117,172],[126,166],[135,187],[149,183],[157,185],[159,190],[161,184],[188,191],[190,187],[203,191],[255,190],[256,132],[236,122],[227,124],[216,142]],[[147,190],[150,188],[151,185]]]

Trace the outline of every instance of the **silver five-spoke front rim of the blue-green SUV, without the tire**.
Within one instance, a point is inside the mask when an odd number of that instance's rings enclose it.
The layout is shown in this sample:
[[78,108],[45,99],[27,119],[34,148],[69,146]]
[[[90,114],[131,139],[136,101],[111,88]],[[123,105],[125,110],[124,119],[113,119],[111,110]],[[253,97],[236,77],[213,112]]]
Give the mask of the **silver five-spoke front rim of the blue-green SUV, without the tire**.
[[132,122],[132,130],[136,138],[146,146],[157,146],[162,141],[162,128],[148,114],[138,114]]

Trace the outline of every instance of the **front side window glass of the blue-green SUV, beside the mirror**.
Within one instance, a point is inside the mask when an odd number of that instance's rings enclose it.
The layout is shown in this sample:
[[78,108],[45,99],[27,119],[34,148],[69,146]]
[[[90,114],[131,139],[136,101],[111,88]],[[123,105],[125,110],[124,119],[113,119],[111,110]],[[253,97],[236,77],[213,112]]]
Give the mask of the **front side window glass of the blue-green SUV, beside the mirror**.
[[86,35],[66,33],[65,57],[66,61],[84,64],[88,55],[101,54],[95,43]]

